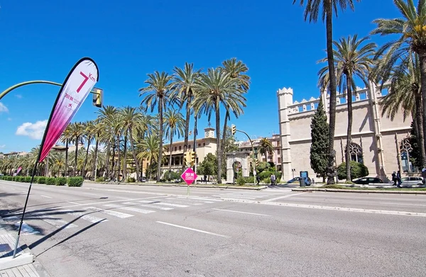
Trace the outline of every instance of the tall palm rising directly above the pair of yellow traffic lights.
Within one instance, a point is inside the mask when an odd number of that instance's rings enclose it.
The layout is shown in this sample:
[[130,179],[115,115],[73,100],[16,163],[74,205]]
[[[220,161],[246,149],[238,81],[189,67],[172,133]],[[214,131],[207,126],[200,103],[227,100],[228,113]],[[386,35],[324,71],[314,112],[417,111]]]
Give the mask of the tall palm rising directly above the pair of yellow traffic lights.
[[188,64],[187,62],[185,62],[185,67],[183,69],[179,67],[173,69],[173,72],[175,72],[171,83],[173,92],[170,97],[177,96],[180,99],[180,104],[185,104],[186,106],[183,152],[187,152],[188,149],[191,102],[194,98],[195,82],[200,77],[201,70],[202,69],[194,69],[194,64]]

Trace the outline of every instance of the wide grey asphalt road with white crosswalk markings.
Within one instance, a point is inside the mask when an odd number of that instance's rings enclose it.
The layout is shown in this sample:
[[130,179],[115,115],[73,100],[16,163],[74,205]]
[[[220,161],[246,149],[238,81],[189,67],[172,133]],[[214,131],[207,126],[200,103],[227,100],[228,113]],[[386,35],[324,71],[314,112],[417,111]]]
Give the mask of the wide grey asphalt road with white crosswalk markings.
[[25,222],[50,276],[426,276],[426,195],[34,184]]

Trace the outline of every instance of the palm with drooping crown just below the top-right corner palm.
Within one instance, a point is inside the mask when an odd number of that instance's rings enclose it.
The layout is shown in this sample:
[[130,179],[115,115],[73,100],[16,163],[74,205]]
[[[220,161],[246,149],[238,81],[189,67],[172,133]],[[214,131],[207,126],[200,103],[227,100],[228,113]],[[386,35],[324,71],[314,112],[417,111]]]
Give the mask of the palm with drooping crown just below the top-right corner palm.
[[[395,117],[400,110],[403,111],[403,119],[408,115],[413,117],[415,135],[420,142],[424,141],[422,125],[422,91],[420,61],[417,54],[409,52],[400,56],[400,64],[391,69],[386,69],[386,60],[378,62],[373,74],[376,80],[388,84],[389,93],[381,99],[382,116]],[[426,164],[425,144],[420,143],[420,157],[422,164]]]

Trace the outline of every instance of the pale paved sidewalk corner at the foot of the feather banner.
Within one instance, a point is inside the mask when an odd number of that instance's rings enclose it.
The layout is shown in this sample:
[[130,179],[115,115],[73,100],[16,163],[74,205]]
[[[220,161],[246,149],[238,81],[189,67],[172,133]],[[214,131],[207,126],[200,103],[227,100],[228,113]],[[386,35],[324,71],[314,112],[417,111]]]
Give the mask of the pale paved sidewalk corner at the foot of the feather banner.
[[30,249],[23,247],[22,233],[15,259],[12,259],[16,242],[16,231],[0,217],[0,277],[48,277],[41,264],[33,261]]

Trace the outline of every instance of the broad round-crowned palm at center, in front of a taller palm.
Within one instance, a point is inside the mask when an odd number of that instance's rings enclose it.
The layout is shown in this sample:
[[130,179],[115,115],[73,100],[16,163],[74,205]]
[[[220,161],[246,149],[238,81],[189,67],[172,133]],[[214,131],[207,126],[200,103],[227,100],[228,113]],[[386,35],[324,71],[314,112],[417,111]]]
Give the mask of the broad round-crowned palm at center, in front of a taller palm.
[[244,106],[246,98],[239,88],[238,79],[230,78],[229,73],[223,70],[208,69],[207,74],[200,75],[197,81],[197,92],[192,102],[195,111],[204,109],[209,119],[212,112],[216,114],[216,142],[217,142],[217,182],[222,183],[222,147],[220,140],[220,104],[232,110]]

